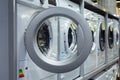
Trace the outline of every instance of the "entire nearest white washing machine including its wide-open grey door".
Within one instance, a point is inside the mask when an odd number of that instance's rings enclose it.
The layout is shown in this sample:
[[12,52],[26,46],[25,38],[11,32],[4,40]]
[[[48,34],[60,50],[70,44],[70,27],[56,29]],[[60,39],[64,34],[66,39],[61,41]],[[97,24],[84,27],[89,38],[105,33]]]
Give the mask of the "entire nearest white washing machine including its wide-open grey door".
[[58,80],[58,73],[78,68],[89,55],[92,34],[85,19],[46,1],[16,3],[17,80]]

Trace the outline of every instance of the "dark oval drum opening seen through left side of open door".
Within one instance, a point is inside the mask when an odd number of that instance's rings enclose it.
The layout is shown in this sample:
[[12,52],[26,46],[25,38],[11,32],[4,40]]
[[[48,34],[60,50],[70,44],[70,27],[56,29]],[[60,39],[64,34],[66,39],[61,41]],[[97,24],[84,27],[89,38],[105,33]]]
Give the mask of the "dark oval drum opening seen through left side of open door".
[[47,24],[43,23],[37,34],[38,47],[45,55],[47,55],[46,53],[48,52],[50,45],[50,33],[48,27]]

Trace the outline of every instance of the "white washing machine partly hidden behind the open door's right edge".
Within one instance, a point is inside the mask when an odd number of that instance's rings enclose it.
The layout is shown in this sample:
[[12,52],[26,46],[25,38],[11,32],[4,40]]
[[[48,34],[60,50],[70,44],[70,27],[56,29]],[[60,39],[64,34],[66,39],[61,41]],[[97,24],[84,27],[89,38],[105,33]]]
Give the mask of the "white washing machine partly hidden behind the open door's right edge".
[[95,39],[97,38],[96,36],[96,29],[98,25],[98,17],[96,14],[90,10],[84,9],[84,17],[87,20],[91,33],[92,33],[92,41],[93,45],[91,48],[91,52],[87,58],[87,60],[84,62],[84,74],[87,74],[93,70],[96,69],[96,61],[97,61],[97,52],[96,52],[96,41]]

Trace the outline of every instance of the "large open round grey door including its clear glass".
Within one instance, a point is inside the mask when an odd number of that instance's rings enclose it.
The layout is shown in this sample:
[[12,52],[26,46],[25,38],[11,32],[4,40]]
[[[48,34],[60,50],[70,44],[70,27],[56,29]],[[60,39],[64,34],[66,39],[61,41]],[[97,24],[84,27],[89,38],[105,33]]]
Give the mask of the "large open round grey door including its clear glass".
[[79,67],[88,57],[92,34],[80,14],[55,7],[43,10],[30,21],[25,45],[38,67],[64,73]]

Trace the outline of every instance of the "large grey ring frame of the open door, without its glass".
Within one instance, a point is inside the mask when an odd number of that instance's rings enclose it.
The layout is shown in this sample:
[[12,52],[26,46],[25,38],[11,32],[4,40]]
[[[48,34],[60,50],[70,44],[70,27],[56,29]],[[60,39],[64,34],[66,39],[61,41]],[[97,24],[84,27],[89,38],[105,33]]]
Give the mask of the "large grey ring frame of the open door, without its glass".
[[[79,24],[76,29],[78,53],[76,58],[66,61],[53,61],[40,52],[35,40],[36,31],[39,28],[38,25],[54,16],[67,17]],[[89,25],[82,15],[67,8],[54,7],[43,10],[30,21],[25,34],[25,46],[29,56],[38,67],[53,73],[64,73],[76,69],[86,60],[92,47],[92,34]]]

